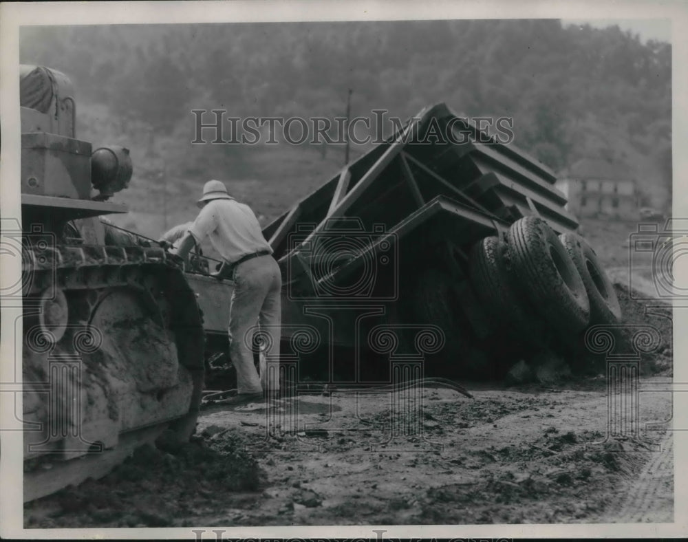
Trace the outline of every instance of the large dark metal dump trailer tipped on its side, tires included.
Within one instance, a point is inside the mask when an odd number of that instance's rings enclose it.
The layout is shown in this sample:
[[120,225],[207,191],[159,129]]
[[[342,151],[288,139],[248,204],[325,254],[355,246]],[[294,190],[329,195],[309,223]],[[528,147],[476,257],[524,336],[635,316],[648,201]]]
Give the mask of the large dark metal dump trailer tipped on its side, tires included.
[[284,277],[282,365],[301,363],[290,378],[389,381],[404,356],[498,377],[618,322],[555,180],[439,104],[301,199],[264,229]]

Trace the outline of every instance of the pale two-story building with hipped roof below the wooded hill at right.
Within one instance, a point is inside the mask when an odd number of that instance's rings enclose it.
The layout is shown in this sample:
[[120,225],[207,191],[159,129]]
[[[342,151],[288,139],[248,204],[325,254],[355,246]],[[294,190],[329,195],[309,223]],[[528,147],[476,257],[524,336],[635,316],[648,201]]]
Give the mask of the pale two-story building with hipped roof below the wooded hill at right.
[[636,180],[623,164],[583,158],[560,173],[556,186],[568,198],[566,208],[577,217],[638,217]]

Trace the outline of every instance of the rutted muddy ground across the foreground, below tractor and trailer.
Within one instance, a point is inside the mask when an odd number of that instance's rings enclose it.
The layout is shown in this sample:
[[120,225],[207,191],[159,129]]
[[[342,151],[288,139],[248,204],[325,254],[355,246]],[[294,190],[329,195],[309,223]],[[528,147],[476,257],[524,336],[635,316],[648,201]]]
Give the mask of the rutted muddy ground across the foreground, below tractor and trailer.
[[[663,335],[641,382],[670,382],[670,318],[617,292],[628,322]],[[141,448],[103,479],[28,503],[25,526],[673,521],[668,391],[639,394],[632,438],[608,435],[602,373],[464,385],[473,398],[426,386],[210,405],[190,444]]]

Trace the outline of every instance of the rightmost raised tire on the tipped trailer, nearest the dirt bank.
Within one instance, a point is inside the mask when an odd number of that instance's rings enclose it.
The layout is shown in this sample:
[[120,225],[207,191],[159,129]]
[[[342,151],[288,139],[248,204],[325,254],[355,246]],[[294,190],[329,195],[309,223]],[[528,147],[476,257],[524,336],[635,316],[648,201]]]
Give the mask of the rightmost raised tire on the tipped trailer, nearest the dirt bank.
[[559,240],[581,274],[590,301],[590,324],[618,324],[621,306],[597,254],[575,233],[562,233]]

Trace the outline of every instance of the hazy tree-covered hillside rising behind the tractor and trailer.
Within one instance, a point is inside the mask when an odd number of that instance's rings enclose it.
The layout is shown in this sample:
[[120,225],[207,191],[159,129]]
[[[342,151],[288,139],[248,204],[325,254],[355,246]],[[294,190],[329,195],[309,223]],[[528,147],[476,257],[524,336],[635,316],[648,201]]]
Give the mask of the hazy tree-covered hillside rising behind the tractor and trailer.
[[[411,116],[444,101],[514,119],[515,144],[555,171],[611,158],[635,172],[645,204],[671,190],[671,46],[617,27],[557,20],[26,27],[21,62],[76,86],[78,135],[127,144],[120,197],[150,235],[191,219],[205,180],[228,181],[267,218],[342,166],[328,148],[192,145],[191,109],[231,116]],[[354,149],[353,156],[365,151]],[[163,181],[166,181],[163,182]]]

